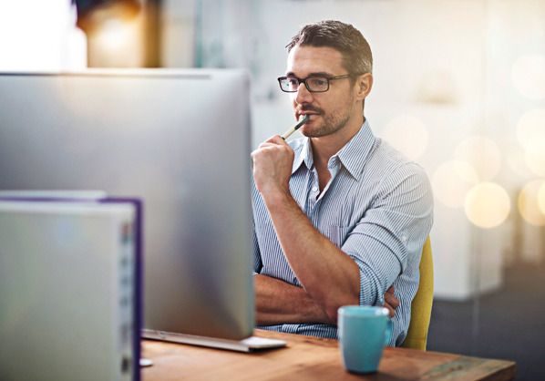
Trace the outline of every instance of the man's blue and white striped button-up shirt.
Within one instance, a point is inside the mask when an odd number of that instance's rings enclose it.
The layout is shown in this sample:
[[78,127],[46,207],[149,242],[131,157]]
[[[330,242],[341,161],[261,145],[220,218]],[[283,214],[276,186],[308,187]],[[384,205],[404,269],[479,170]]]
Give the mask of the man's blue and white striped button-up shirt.
[[[320,193],[310,139],[290,142],[290,190],[314,227],[357,264],[359,303],[383,305],[394,284],[400,305],[390,345],[401,345],[418,288],[418,264],[433,220],[431,187],[424,170],[375,138],[367,120],[328,162],[331,180]],[[301,286],[278,242],[259,191],[252,186],[254,273]],[[336,325],[259,326],[291,334],[337,338]]]

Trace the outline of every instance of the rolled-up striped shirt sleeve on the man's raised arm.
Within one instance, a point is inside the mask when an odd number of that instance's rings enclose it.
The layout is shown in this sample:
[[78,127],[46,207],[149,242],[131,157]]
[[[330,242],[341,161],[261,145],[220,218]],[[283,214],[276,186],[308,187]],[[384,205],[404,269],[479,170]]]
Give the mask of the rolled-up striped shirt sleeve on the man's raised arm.
[[342,245],[359,268],[360,304],[384,304],[386,290],[407,262],[419,263],[432,216],[431,187],[421,167],[406,163],[383,178],[373,204]]

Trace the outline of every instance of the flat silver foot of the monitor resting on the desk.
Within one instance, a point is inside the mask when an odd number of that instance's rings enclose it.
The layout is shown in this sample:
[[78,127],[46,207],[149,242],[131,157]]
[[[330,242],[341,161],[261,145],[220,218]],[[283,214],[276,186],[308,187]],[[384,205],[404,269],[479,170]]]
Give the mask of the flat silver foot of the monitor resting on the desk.
[[211,348],[228,349],[239,352],[254,352],[261,349],[280,348],[286,346],[287,344],[283,340],[256,336],[250,336],[242,340],[228,340],[215,337],[175,334],[152,329],[143,329],[142,338],[189,345],[208,346]]

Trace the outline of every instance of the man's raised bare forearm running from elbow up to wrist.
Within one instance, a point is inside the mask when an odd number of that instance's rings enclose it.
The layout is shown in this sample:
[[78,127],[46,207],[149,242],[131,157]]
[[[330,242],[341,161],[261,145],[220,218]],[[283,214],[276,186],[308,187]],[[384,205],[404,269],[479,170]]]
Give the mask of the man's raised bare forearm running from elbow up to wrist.
[[318,232],[289,193],[264,198],[286,259],[304,290],[336,320],[344,304],[359,304],[359,269]]

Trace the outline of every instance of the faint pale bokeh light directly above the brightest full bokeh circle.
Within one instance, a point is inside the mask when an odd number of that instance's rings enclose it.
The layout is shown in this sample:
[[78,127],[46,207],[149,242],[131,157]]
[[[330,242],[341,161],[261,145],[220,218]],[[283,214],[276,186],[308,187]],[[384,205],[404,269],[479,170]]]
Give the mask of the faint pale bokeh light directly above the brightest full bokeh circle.
[[477,170],[479,180],[492,180],[501,168],[501,154],[496,142],[483,136],[463,140],[455,150],[456,160],[466,161]]

